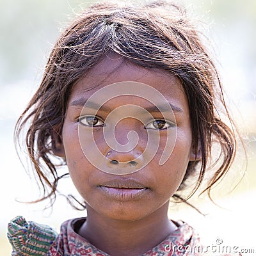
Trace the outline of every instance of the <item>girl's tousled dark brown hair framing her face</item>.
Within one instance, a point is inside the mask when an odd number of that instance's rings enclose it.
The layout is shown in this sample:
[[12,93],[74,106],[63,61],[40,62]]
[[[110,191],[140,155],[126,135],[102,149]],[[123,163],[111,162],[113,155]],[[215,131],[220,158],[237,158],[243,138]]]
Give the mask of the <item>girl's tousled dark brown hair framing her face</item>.
[[[228,115],[218,72],[207,54],[195,25],[182,8],[157,1],[143,6],[99,3],[91,6],[71,24],[54,45],[42,83],[20,116],[15,127],[16,139],[26,131],[26,150],[40,180],[44,195],[37,201],[56,198],[58,173],[53,163],[52,132],[61,134],[68,95],[72,85],[104,58],[115,52],[145,68],[172,72],[182,81],[188,97],[193,143],[200,161],[191,161],[184,180],[173,198],[183,200],[179,191],[197,168],[198,176],[191,194],[202,183],[212,143],[220,145],[218,168],[212,173],[204,191],[227,173],[236,152],[234,126]],[[218,102],[218,108],[216,107]],[[218,109],[228,116],[231,129]],[[186,200],[186,198],[184,199]]]

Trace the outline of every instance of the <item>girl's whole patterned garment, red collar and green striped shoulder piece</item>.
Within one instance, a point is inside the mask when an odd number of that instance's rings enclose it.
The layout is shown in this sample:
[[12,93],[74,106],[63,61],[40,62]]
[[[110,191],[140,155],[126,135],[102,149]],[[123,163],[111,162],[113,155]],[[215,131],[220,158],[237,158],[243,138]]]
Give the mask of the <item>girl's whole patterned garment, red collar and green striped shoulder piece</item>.
[[[18,216],[8,225],[8,239],[13,246],[12,256],[110,256],[75,232],[84,221],[86,218],[65,221],[61,225],[60,234],[57,235],[51,227],[33,221],[27,222]],[[187,223],[178,221],[175,224],[178,226],[175,232],[140,256],[213,255],[202,251],[198,234]],[[197,251],[189,252],[190,248]]]

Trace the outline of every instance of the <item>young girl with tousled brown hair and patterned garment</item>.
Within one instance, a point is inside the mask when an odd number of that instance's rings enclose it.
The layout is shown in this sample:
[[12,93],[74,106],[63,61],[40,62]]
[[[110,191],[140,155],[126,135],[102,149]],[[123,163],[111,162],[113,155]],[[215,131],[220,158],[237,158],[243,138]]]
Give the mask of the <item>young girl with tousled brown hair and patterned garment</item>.
[[12,255],[212,255],[167,212],[170,198],[186,202],[202,184],[213,142],[220,157],[205,191],[228,172],[236,138],[220,109],[229,117],[183,10],[159,1],[88,8],[54,45],[16,127],[18,139],[28,127],[38,201],[54,200],[67,164],[87,216],[65,221],[60,234],[18,216],[8,225]]

